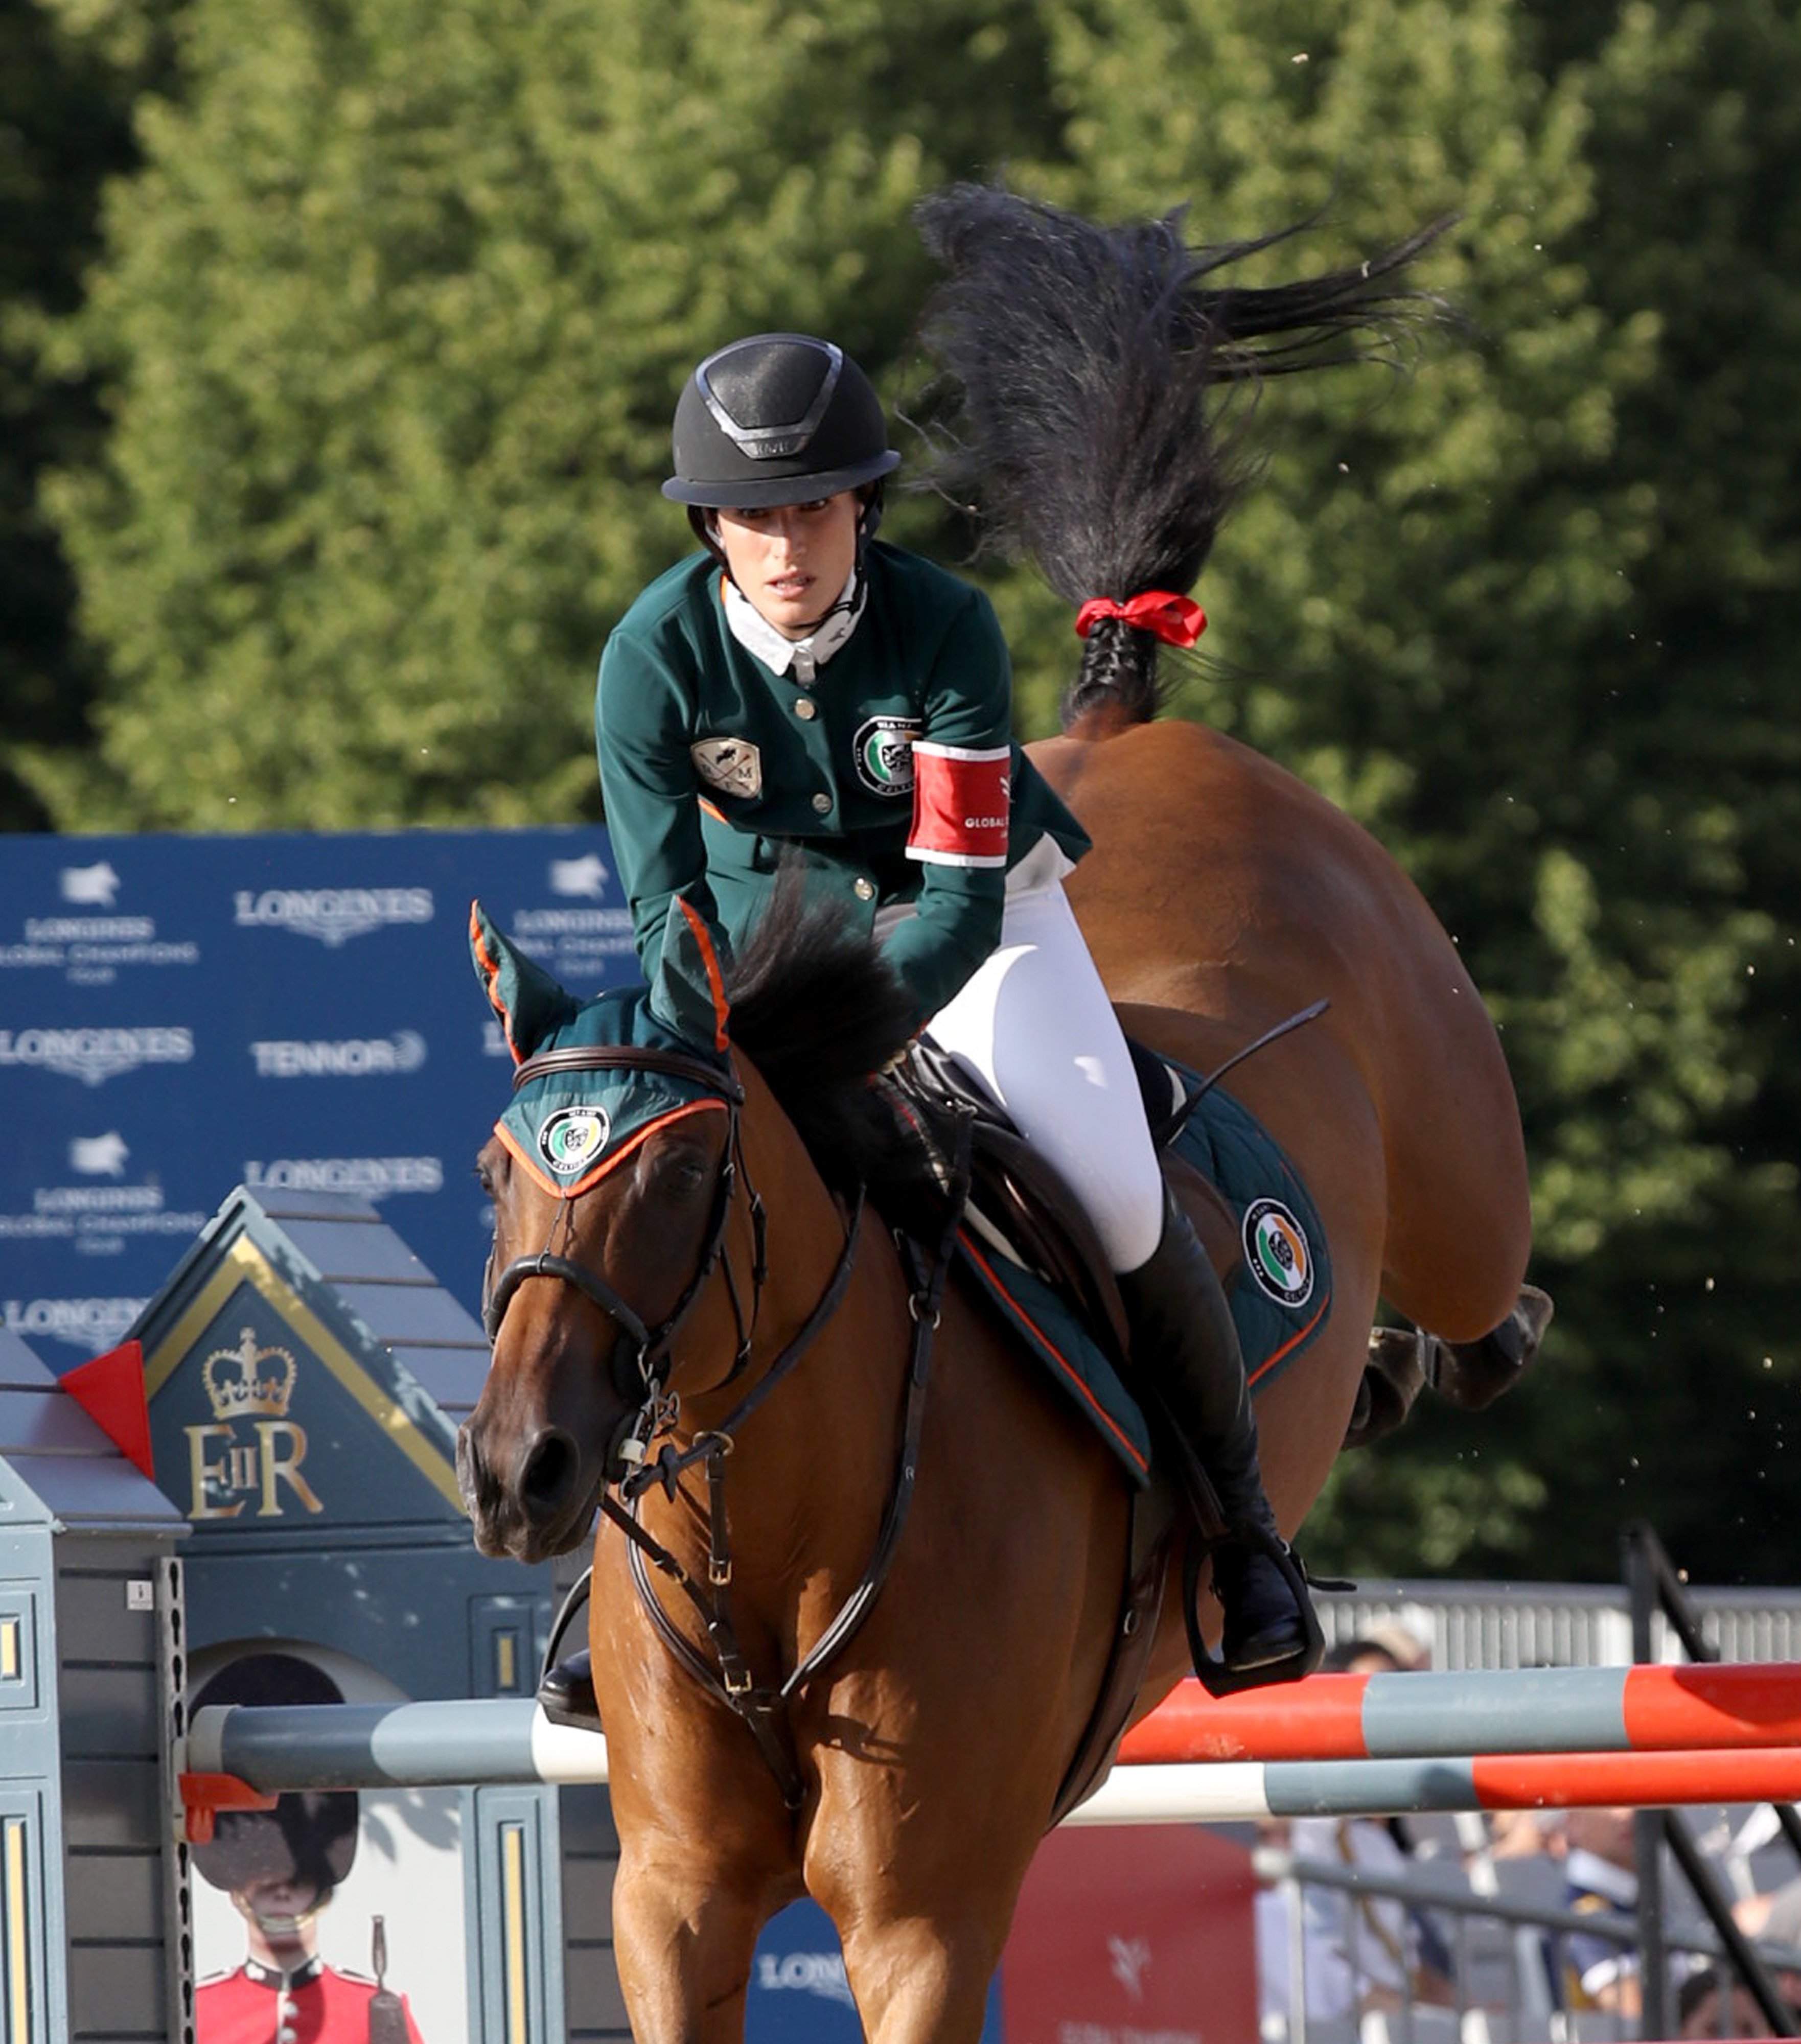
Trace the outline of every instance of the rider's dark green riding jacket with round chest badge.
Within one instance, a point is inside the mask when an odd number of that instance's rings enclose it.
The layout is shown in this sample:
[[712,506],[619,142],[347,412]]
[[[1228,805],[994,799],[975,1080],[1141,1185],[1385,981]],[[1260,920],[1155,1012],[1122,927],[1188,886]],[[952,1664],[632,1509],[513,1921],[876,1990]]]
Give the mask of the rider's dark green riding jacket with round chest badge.
[[[906,856],[912,742],[1010,746],[1006,867],[1049,832],[1088,836],[1012,736],[1012,666],[977,589],[875,542],[857,630],[810,685],[773,672],[726,621],[724,574],[697,556],[658,576],[601,654],[595,742],[613,861],[638,959],[664,1018],[664,928],[683,895],[726,950],[767,899],[783,848],[863,928],[883,908],[887,955],[924,1022],[1000,940],[1006,871]],[[687,991],[687,989],[683,989]]]

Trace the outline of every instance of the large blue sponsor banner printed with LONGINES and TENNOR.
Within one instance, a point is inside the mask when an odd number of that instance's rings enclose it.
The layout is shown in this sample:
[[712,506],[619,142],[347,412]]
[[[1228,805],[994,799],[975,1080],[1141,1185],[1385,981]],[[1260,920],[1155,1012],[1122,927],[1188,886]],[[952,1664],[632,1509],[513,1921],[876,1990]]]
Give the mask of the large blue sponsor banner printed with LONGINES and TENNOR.
[[0,1314],[110,1347],[235,1186],[352,1192],[470,1310],[511,1063],[468,903],[576,993],[638,977],[607,836],[0,836]]

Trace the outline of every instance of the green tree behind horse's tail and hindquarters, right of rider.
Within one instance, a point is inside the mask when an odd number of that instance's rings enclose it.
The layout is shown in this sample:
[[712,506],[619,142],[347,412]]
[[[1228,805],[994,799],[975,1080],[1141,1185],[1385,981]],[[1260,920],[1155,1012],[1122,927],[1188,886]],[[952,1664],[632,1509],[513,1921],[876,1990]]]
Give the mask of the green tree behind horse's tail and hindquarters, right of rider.
[[[1662,568],[1627,446],[1662,305],[1595,276],[1599,84],[1545,82],[1509,0],[1092,0],[1055,27],[1075,204],[1194,194],[1206,239],[1317,208],[1272,270],[1460,215],[1421,280],[1466,333],[1425,333],[1409,376],[1263,394],[1269,472],[1204,576],[1214,660],[1186,703],[1361,816],[1464,944],[1515,1067],[1535,1271],[1562,1306],[1507,1404],[1421,1410],[1341,1468],[1321,1558],[1611,1574],[1623,1517],[1670,1525],[1650,1459],[1709,1494],[1727,1468],[1750,1478],[1742,1443],[1691,1425],[1660,1288],[1703,1282],[1748,1190],[1721,1126],[1754,1087],[1736,1053],[1770,920],[1740,895],[1742,830],[1695,785],[1684,713],[1625,697],[1605,658],[1644,630]],[[1041,615],[1014,601],[1034,650]]]

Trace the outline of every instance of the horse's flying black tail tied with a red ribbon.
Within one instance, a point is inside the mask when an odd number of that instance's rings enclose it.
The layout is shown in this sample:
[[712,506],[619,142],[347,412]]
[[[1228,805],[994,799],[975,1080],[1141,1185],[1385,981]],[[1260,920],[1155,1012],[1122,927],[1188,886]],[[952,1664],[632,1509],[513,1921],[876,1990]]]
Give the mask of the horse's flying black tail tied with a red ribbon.
[[922,323],[942,370],[926,401],[932,480],[1090,607],[1065,730],[1145,724],[1161,703],[1159,646],[1192,644],[1196,613],[1153,599],[1159,636],[1094,617],[1094,599],[1186,597],[1255,474],[1245,423],[1261,380],[1392,356],[1423,309],[1441,311],[1396,276],[1449,221],[1355,268],[1257,290],[1212,278],[1310,223],[1190,247],[1184,211],[1098,227],[983,184],[932,194],[916,221],[946,272]]

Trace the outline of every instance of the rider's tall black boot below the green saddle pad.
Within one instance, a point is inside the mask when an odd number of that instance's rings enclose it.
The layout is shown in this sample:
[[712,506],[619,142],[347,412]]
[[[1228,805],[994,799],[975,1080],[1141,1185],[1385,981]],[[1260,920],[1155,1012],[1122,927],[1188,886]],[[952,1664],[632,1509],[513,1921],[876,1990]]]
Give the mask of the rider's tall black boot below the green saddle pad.
[[[1141,1390],[1163,1406],[1182,1449],[1200,1461],[1227,1523],[1227,1545],[1212,1558],[1212,1580],[1225,1605],[1220,1658],[1233,1674],[1257,1668],[1298,1672],[1292,1664],[1319,1639],[1304,1609],[1298,1570],[1267,1551],[1280,1547],[1276,1515],[1257,1470],[1257,1421],[1245,1384],[1239,1331],[1188,1214],[1163,1194],[1163,1237],[1147,1263],[1118,1280],[1133,1333]],[[1198,1484],[1182,1468],[1194,1498]]]

